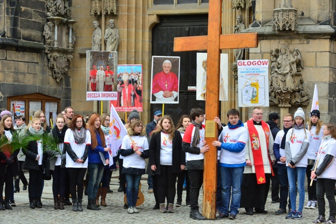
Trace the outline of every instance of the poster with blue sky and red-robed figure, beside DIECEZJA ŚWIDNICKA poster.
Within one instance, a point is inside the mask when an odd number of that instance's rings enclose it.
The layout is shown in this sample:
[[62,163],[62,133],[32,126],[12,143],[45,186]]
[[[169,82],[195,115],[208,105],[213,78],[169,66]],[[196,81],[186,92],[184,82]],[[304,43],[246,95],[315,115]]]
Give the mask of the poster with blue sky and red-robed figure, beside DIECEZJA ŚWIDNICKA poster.
[[142,111],[142,65],[118,65],[116,99],[111,100],[117,112]]

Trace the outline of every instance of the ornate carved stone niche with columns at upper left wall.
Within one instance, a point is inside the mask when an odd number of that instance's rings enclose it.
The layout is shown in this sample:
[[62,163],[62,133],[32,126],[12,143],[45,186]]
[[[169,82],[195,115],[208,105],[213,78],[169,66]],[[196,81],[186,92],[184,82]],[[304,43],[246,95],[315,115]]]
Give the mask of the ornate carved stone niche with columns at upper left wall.
[[76,42],[69,0],[48,0],[48,22],[44,25],[45,53],[53,78],[60,82],[69,72]]

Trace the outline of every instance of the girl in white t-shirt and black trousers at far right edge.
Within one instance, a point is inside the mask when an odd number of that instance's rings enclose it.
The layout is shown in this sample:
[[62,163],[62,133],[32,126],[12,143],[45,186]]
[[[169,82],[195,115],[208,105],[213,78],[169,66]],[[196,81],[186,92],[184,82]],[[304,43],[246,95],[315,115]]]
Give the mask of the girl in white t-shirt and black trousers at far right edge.
[[325,221],[324,193],[329,202],[329,218],[325,223],[336,223],[336,202],[334,186],[336,183],[336,126],[332,123],[324,125],[323,140],[317,152],[316,170],[311,171],[311,179],[317,177],[316,196],[318,205],[318,217],[311,223],[323,223]]

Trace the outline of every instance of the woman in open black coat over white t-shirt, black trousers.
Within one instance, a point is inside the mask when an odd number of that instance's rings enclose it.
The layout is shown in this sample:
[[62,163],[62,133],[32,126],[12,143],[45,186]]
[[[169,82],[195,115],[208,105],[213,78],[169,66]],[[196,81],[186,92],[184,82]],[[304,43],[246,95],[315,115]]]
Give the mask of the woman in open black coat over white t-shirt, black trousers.
[[[175,130],[170,116],[163,116],[160,126],[153,132],[149,146],[151,170],[157,178],[157,197],[160,212],[174,213],[176,179],[186,167],[186,153],[182,149],[182,137]],[[167,198],[167,208],[164,204]]]

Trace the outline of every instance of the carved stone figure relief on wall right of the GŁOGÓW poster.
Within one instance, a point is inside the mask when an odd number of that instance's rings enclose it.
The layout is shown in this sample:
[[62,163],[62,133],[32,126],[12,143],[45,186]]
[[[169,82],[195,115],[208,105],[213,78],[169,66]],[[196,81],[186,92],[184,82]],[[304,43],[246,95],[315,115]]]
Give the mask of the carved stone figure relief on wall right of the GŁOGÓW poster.
[[280,49],[270,51],[270,58],[270,105],[307,105],[309,97],[302,87],[300,51],[295,48],[290,52],[289,46],[281,46]]

